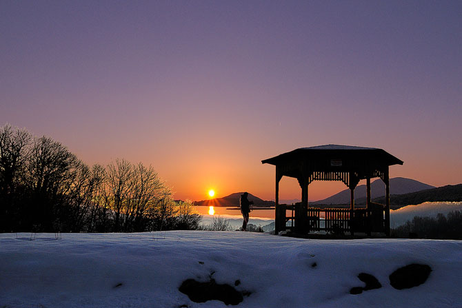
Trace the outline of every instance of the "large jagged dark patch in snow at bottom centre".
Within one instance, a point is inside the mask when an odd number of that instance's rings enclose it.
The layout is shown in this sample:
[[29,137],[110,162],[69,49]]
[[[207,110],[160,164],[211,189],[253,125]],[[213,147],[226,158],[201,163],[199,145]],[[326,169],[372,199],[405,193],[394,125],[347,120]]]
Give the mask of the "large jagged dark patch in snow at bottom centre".
[[225,305],[237,305],[243,301],[243,294],[234,289],[234,287],[227,284],[219,285],[214,279],[205,283],[199,283],[194,279],[187,279],[183,281],[179,287],[179,291],[186,294],[193,302],[221,300]]

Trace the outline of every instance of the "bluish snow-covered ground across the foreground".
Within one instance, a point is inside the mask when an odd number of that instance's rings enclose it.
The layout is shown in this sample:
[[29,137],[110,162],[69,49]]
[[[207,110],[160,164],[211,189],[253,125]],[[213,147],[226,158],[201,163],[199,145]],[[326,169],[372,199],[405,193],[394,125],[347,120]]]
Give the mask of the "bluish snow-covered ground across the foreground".
[[[154,236],[154,240],[153,240]],[[250,291],[239,307],[462,307],[462,241],[307,240],[252,232],[0,234],[0,307],[225,307],[179,292],[194,278]],[[312,265],[316,263],[317,266]],[[388,276],[427,264],[427,282]],[[361,272],[383,287],[351,295]],[[214,274],[212,274],[214,273]],[[233,307],[233,306],[230,306]]]

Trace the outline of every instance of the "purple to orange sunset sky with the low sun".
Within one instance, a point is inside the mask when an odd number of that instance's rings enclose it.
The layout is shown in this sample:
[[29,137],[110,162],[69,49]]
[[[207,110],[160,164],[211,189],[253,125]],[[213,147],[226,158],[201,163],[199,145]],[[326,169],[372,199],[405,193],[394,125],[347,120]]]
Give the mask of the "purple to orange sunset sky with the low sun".
[[273,199],[261,160],[329,143],[462,183],[462,1],[1,1],[5,123],[152,165],[193,201]]

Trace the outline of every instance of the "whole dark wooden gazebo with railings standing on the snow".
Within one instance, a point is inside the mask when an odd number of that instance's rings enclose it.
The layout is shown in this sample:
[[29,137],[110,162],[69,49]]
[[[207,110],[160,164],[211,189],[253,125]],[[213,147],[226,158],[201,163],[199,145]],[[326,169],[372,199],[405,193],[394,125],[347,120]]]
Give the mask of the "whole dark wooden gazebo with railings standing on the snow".
[[[276,166],[275,232],[291,229],[299,234],[325,231],[385,233],[390,236],[390,165],[403,161],[382,149],[350,145],[319,145],[301,147],[261,163]],[[301,187],[301,203],[279,205],[279,181],[283,176],[297,178]],[[370,179],[381,178],[385,183],[385,205],[370,200]],[[354,188],[366,180],[365,208],[354,208]],[[342,181],[351,192],[350,209],[314,208],[308,206],[308,185],[312,181]],[[287,212],[292,209],[292,215]],[[324,218],[324,219],[322,219]],[[292,221],[289,221],[292,220]]]

